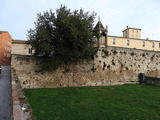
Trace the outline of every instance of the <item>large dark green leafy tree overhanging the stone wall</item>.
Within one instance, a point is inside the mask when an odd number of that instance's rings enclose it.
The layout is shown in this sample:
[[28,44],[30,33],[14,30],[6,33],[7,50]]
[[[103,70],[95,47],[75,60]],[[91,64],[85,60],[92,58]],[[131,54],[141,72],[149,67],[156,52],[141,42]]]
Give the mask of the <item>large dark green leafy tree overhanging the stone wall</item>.
[[42,69],[89,60],[93,55],[93,22],[95,13],[82,9],[71,12],[61,6],[56,13],[39,13],[35,29],[28,31],[28,42],[41,56]]

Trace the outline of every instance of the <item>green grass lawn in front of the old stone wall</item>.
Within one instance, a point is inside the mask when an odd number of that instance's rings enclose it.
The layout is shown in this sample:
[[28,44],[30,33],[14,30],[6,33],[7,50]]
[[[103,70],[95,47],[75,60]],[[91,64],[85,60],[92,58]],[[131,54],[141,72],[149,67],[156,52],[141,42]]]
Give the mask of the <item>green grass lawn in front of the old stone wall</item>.
[[35,120],[160,120],[160,87],[27,89]]

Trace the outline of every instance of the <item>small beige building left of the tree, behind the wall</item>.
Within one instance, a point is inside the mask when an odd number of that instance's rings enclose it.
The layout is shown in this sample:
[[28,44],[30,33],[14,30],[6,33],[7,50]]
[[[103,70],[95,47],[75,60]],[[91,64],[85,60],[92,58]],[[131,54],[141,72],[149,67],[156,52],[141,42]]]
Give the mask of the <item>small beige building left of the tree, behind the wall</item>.
[[12,54],[15,55],[33,55],[32,46],[24,40],[12,41]]

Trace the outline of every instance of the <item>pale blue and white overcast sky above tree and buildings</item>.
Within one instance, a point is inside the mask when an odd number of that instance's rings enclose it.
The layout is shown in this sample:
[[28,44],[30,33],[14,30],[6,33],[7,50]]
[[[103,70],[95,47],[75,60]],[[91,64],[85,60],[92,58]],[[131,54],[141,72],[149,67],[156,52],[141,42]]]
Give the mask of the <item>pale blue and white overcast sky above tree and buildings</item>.
[[13,39],[27,40],[39,12],[66,5],[71,10],[95,11],[109,35],[122,36],[129,27],[141,28],[142,38],[160,40],[160,0],[0,0],[0,30]]

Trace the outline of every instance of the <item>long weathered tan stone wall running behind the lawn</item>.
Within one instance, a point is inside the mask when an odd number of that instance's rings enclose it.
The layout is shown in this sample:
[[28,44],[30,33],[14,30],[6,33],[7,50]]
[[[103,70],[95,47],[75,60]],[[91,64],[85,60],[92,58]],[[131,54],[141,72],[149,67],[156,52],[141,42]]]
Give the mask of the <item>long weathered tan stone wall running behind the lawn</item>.
[[22,88],[108,86],[138,82],[138,74],[160,77],[160,53],[117,47],[99,48],[94,61],[39,72],[33,56],[12,55]]

